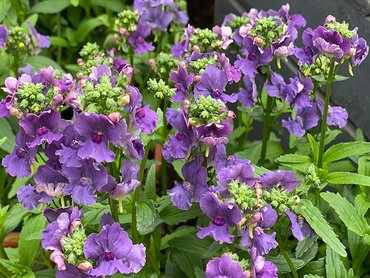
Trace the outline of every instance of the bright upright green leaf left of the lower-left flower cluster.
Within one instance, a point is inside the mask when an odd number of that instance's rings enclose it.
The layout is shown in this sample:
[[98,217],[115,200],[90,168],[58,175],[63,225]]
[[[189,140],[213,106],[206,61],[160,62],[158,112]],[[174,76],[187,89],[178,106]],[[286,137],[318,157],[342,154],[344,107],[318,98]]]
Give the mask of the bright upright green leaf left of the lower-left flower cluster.
[[[24,223],[19,237],[20,263],[31,266],[40,248],[41,232],[46,225],[45,217],[42,214],[30,216]],[[28,240],[30,234],[37,233],[38,239]]]

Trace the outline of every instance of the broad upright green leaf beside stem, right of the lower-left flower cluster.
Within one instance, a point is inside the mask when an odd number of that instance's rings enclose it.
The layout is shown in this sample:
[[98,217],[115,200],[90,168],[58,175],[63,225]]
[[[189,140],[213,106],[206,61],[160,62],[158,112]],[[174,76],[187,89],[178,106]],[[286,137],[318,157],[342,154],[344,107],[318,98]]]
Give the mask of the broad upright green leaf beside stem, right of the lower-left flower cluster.
[[141,235],[146,235],[163,222],[151,200],[144,200],[136,203],[137,230]]

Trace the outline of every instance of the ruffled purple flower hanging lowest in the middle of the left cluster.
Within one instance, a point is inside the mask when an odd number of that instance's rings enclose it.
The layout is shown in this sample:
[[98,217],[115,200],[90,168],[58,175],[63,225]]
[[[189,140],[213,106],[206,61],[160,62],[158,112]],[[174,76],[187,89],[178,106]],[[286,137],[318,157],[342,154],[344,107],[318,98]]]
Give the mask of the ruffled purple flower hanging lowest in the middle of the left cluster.
[[96,202],[95,192],[107,184],[108,175],[103,165],[94,165],[92,160],[85,160],[81,167],[63,167],[63,173],[69,180],[64,192],[72,195],[72,199],[84,205]]

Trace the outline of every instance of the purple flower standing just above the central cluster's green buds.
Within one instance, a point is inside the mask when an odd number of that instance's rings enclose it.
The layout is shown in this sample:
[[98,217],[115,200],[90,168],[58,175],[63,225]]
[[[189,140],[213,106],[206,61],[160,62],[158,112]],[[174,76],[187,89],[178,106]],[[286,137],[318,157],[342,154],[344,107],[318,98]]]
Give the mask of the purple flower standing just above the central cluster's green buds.
[[208,65],[202,73],[200,82],[195,85],[194,97],[198,99],[200,95],[205,97],[212,96],[223,102],[235,102],[238,98],[236,94],[227,95],[224,93],[227,85],[226,73],[215,66]]

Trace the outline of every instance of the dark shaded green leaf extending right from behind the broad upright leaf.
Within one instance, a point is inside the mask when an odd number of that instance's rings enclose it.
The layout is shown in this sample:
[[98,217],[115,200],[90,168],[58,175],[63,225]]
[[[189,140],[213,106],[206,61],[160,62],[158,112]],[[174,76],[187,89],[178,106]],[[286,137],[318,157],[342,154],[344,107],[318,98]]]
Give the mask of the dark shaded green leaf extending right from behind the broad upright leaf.
[[202,214],[203,212],[199,209],[198,204],[193,204],[188,210],[181,210],[170,204],[160,212],[163,221],[171,226],[188,221]]

